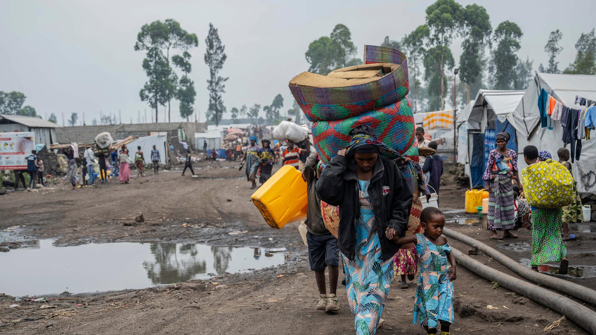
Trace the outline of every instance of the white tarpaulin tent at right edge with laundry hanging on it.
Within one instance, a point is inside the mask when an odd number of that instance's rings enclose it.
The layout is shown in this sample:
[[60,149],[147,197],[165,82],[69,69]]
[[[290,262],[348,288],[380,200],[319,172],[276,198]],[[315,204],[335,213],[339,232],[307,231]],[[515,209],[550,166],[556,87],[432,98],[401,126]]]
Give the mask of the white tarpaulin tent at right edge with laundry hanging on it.
[[[516,128],[520,156],[526,145],[535,145],[538,150],[547,150],[553,157],[557,156],[558,148],[564,146],[563,127],[559,122],[552,122],[552,130],[541,128],[539,125],[538,94],[542,88],[561,104],[570,108],[582,107],[575,104],[576,95],[596,100],[596,76],[536,73],[522,101],[517,105],[514,113],[507,117]],[[594,139],[582,140],[582,154],[573,164],[573,176],[578,181],[580,192],[596,193],[596,144],[594,142]],[[518,164],[520,169],[526,166],[523,159],[520,159]]]

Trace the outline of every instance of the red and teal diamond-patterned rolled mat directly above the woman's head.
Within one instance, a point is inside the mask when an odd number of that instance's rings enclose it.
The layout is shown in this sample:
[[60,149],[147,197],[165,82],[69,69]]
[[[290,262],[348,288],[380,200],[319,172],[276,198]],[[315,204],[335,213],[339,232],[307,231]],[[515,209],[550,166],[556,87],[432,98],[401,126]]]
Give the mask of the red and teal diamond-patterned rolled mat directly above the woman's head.
[[313,142],[324,164],[329,163],[337,151],[350,144],[352,138],[348,134],[359,125],[373,127],[377,131],[377,138],[400,154],[405,154],[414,145],[414,115],[408,98],[403,98],[398,103],[347,119],[313,122]]

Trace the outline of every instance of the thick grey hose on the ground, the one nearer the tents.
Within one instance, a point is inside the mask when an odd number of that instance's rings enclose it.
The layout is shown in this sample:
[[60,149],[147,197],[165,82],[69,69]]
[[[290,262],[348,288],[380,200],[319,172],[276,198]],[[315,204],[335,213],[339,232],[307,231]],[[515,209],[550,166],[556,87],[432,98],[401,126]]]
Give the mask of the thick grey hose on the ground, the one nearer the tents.
[[581,286],[579,284],[575,284],[561,278],[552,277],[550,275],[545,275],[541,274],[540,272],[532,271],[529,268],[526,268],[526,266],[523,266],[520,263],[516,262],[515,260],[508,258],[498,250],[493,249],[487,244],[484,244],[478,240],[475,240],[474,238],[461,234],[460,232],[445,228],[443,229],[443,234],[445,234],[448,237],[455,238],[455,240],[461,241],[465,244],[470,244],[470,246],[477,246],[478,249],[482,250],[483,253],[485,253],[488,256],[491,256],[494,260],[506,266],[508,269],[515,272],[516,274],[519,274],[520,276],[526,278],[527,280],[533,281],[536,284],[541,284],[542,286],[550,287],[551,289],[563,292],[565,294],[569,294],[570,296],[576,297],[577,299],[580,299],[583,302],[587,302],[591,305],[596,306],[596,291],[588,289],[588,287]]

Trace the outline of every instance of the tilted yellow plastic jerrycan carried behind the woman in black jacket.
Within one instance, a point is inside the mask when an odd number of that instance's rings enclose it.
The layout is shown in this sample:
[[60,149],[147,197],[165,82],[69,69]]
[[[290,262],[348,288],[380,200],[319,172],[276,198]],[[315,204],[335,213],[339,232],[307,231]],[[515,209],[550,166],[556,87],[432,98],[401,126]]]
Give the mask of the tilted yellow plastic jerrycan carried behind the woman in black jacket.
[[282,166],[251,198],[273,228],[306,219],[306,182],[293,166]]

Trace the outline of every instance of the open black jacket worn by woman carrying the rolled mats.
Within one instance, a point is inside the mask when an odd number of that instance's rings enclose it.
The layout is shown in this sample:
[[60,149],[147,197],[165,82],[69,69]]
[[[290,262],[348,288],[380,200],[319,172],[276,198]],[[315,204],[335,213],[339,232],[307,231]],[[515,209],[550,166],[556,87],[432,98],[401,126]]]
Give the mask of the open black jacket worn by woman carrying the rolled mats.
[[[354,259],[356,218],[360,212],[354,159],[339,155],[333,157],[316,182],[316,193],[322,201],[340,207],[337,232],[339,250],[348,258]],[[399,244],[387,239],[385,229],[393,228],[398,231],[399,236],[405,236],[412,207],[412,192],[395,162],[379,155],[373,168],[368,196],[374,206],[375,225],[381,243],[381,258],[385,261],[395,256],[400,247]]]

